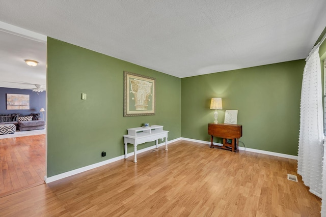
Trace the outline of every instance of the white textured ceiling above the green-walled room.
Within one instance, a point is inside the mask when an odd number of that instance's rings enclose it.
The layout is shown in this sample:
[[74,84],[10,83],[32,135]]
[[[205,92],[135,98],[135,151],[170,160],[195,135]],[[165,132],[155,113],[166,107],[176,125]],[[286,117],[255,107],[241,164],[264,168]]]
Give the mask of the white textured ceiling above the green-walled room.
[[183,78],[306,58],[325,9],[324,0],[0,0],[0,21]]

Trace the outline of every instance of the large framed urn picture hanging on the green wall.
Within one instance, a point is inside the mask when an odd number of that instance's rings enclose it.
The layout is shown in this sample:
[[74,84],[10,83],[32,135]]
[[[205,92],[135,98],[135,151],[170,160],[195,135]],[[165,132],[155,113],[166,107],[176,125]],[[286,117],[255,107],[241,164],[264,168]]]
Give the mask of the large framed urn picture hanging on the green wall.
[[155,115],[155,78],[124,71],[123,116]]

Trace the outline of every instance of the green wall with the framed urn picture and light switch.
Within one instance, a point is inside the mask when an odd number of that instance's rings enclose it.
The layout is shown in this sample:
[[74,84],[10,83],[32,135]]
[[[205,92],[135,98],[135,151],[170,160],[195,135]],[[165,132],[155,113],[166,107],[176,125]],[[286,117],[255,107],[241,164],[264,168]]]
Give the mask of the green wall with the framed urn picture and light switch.
[[[124,71],[156,78],[155,115],[123,117]],[[51,177],[122,156],[126,129],[144,122],[164,126],[169,140],[181,137],[181,79],[48,38],[47,118]]]

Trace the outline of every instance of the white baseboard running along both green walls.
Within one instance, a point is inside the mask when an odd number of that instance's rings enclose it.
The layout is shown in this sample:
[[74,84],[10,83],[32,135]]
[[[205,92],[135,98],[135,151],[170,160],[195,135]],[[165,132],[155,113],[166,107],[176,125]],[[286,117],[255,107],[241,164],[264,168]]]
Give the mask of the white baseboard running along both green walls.
[[[198,142],[198,143],[203,143],[203,144],[210,145],[210,142],[208,142],[208,141],[202,141],[202,140],[197,140],[197,139],[188,139],[188,138],[184,138],[184,137],[180,137],[180,138],[168,141],[168,144],[179,141],[179,140],[185,140],[185,141],[190,141],[190,142]],[[165,142],[158,144],[158,146],[163,146],[163,145],[165,145]],[[214,142],[214,145],[222,146],[221,143],[215,143],[215,142]],[[142,153],[142,152],[145,152],[145,151],[149,151],[149,150],[154,149],[154,148],[155,148],[155,145],[147,147],[147,148],[140,149],[140,150],[137,151],[137,153]],[[239,146],[239,150],[244,150],[244,147]],[[297,156],[284,154],[284,153],[264,151],[264,150],[253,149],[253,148],[246,148],[246,151],[262,153],[262,154],[268,154],[268,155],[271,155],[271,156],[297,160]],[[128,157],[131,157],[133,155],[134,155],[134,152],[128,153]],[[69,177],[69,176],[72,176],[72,175],[76,175],[78,173],[82,173],[82,172],[85,172],[85,171],[88,171],[88,170],[91,170],[91,169],[95,169],[97,167],[100,167],[100,166],[103,166],[103,165],[106,165],[106,164],[113,163],[115,161],[122,160],[123,158],[124,158],[124,155],[118,156],[116,158],[108,159],[106,161],[102,161],[102,162],[99,162],[99,163],[96,163],[96,164],[88,165],[86,167],[71,170],[71,171],[68,171],[68,172],[65,172],[65,173],[54,175],[54,176],[51,176],[51,177],[44,176],[44,181],[45,181],[45,183],[50,183],[52,181],[57,181],[57,180],[62,179],[62,178],[66,178],[66,177]]]

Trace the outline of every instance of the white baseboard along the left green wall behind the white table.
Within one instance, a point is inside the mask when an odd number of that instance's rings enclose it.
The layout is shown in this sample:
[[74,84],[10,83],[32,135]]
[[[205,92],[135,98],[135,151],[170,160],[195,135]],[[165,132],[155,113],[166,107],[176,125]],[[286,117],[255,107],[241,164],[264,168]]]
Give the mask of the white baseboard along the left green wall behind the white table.
[[[168,144],[170,144],[172,142],[179,141],[179,140],[181,140],[181,138],[173,139],[171,141],[168,141]],[[163,145],[165,145],[165,142],[158,144],[158,146],[163,146]],[[150,146],[150,147],[147,147],[147,148],[137,150],[137,154],[148,151],[148,150],[151,150],[151,149],[154,149],[155,147],[156,146],[153,145],[153,146]],[[133,155],[134,155],[134,152],[128,153],[128,157],[131,157]],[[78,168],[78,169],[75,169],[75,170],[71,170],[71,171],[68,171],[68,172],[65,172],[65,173],[54,175],[54,176],[51,176],[51,177],[44,176],[44,181],[45,181],[45,183],[50,183],[52,181],[57,181],[57,180],[62,179],[62,178],[66,178],[66,177],[69,177],[69,176],[72,176],[72,175],[76,175],[78,173],[82,173],[82,172],[85,172],[85,171],[88,171],[88,170],[91,170],[91,169],[95,169],[95,168],[100,167],[100,166],[104,166],[106,164],[113,163],[115,161],[122,160],[123,158],[124,158],[124,155],[118,156],[116,158],[108,159],[106,161],[101,161],[101,162],[98,162],[98,163],[95,163],[95,164],[92,164],[92,165],[88,165],[88,166],[85,166],[85,167],[82,167],[82,168]]]

